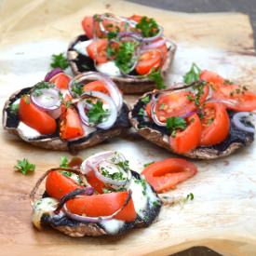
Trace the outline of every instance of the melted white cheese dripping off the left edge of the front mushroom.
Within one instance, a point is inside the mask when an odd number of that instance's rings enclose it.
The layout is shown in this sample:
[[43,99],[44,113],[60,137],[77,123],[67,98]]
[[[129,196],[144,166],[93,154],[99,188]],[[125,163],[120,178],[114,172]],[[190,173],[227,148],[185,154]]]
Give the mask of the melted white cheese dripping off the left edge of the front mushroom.
[[51,214],[58,206],[58,201],[52,197],[45,197],[34,203],[32,222],[34,226],[41,229],[41,217],[43,214]]

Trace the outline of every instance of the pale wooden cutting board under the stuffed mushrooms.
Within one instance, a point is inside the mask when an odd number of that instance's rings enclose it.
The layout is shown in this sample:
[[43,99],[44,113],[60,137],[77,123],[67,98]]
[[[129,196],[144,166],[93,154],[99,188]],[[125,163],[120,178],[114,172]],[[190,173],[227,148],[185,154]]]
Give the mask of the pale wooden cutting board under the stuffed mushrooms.
[[[115,12],[154,17],[178,44],[169,80],[179,81],[193,61],[227,78],[236,78],[256,91],[256,60],[247,15],[185,14],[142,7],[123,1],[34,0],[4,1],[0,6],[0,102],[13,91],[44,77],[52,53],[64,51],[81,34],[84,15]],[[15,10],[15,11],[14,11]],[[133,101],[133,98],[129,100]],[[193,193],[194,201],[163,207],[157,222],[125,236],[70,238],[51,229],[38,232],[31,223],[28,195],[47,168],[60,156],[32,147],[0,130],[0,253],[1,255],[167,255],[200,245],[225,255],[256,255],[256,147],[253,143],[228,158],[197,161],[198,174],[168,195]],[[136,138],[115,139],[81,151],[86,157],[118,149],[141,171],[143,164],[171,156]],[[13,170],[26,157],[34,174]]]

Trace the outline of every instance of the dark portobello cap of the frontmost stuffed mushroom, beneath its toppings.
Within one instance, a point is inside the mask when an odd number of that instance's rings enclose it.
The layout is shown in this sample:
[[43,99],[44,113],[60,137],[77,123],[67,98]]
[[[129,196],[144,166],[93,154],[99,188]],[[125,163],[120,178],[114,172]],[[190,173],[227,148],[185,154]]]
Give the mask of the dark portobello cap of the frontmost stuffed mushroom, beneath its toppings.
[[[132,179],[141,180],[141,175],[131,170]],[[101,223],[86,223],[78,222],[70,219],[66,215],[48,215],[41,216],[41,224],[43,226],[50,226],[64,233],[67,236],[82,237],[82,236],[118,236],[126,233],[133,227],[147,227],[155,221],[162,207],[162,202],[152,186],[147,183],[147,189],[155,196],[157,204],[150,204],[150,199],[147,197],[146,209],[143,210],[144,217],[137,214],[137,219],[133,222],[125,222],[123,226],[118,229],[118,232],[109,233]],[[145,195],[147,196],[147,195]],[[48,197],[47,192],[42,197]],[[152,197],[152,195],[151,195]]]

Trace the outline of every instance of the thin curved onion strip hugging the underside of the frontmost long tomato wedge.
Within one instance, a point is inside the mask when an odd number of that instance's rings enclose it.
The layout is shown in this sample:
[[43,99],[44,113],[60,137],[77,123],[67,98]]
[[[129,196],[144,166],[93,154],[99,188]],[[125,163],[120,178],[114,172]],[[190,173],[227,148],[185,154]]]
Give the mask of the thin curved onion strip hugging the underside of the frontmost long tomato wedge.
[[114,219],[115,216],[128,205],[128,202],[130,199],[131,199],[131,191],[129,190],[128,197],[127,197],[124,205],[120,209],[117,209],[113,214],[108,215],[108,216],[89,217],[89,216],[84,216],[84,215],[82,216],[82,215],[74,214],[67,209],[66,205],[63,206],[63,211],[69,218],[71,218],[77,222],[92,222],[92,223],[96,222],[97,223],[97,222],[101,222],[101,221],[107,221],[107,220]]

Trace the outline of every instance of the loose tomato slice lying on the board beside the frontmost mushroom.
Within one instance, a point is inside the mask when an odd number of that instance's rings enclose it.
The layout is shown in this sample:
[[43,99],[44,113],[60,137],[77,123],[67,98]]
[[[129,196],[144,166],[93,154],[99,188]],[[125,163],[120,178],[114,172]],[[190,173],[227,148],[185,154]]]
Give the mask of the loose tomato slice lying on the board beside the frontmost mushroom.
[[142,174],[157,193],[163,193],[175,189],[178,183],[191,178],[196,172],[197,168],[193,163],[184,159],[168,158],[144,168]]

